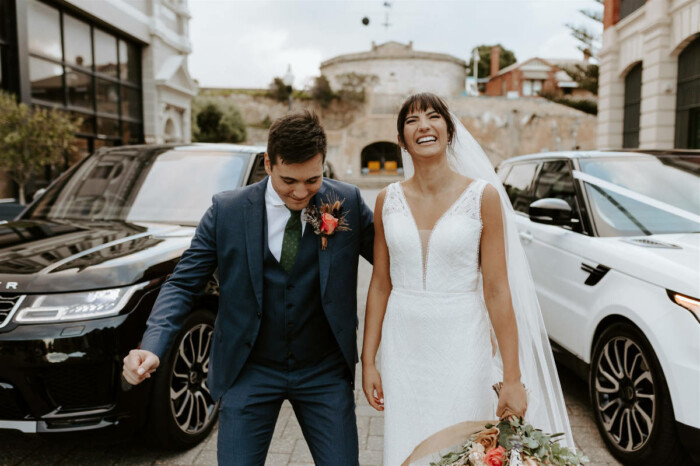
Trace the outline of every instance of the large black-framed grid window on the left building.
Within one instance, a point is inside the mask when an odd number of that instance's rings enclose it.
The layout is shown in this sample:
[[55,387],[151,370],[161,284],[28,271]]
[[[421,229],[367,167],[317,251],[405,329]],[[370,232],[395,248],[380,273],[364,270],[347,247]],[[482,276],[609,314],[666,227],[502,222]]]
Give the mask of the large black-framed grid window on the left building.
[[52,4],[27,2],[31,103],[81,118],[85,153],[143,142],[139,45]]

